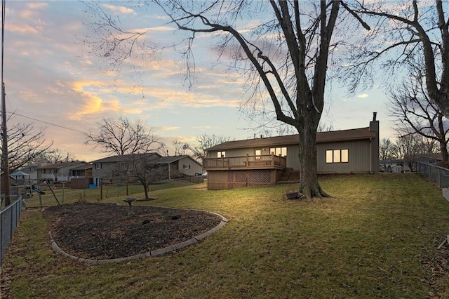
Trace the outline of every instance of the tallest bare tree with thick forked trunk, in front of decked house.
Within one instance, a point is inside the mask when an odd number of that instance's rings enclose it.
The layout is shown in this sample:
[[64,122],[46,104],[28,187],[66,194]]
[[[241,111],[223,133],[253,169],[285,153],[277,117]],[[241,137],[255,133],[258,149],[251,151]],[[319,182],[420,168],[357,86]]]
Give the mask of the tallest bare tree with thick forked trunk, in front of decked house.
[[[257,3],[154,0],[154,3],[159,4],[178,29],[191,33],[185,40],[187,76],[195,71],[196,36],[222,37],[218,55],[233,51],[236,64],[253,78],[254,90],[260,91],[253,93],[255,100],[271,100],[276,119],[295,127],[299,133],[299,191],[306,197],[326,196],[316,175],[316,129],[323,112],[328,58],[336,46],[332,39],[340,4],[349,11],[342,14],[342,20],[348,16],[361,19],[342,1],[310,1],[307,5],[283,0]],[[267,9],[271,9],[271,15]],[[260,14],[257,25],[242,27],[239,23],[247,15],[255,17],[257,13]],[[100,11],[98,17],[101,25],[97,23],[95,28],[119,28],[113,18],[105,18],[104,12]],[[109,44],[103,43],[106,49],[101,51],[110,55],[121,42],[133,44],[130,39],[141,38],[125,33],[117,29],[109,34]],[[120,51],[119,55],[130,52]]]

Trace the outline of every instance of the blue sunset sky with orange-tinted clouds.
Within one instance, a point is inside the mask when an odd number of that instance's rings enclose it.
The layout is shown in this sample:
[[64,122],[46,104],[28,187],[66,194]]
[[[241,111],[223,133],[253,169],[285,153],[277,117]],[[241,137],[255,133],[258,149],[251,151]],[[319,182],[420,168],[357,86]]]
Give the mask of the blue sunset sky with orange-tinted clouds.
[[[145,13],[107,1],[102,11],[129,32],[145,29],[145,42],[168,46],[182,39],[160,9]],[[245,81],[225,63],[206,36],[194,44],[194,84],[185,81],[185,62],[173,50],[135,51],[120,67],[100,58],[95,21],[80,1],[6,1],[4,83],[11,122],[46,128],[53,148],[76,159],[93,161],[108,154],[86,145],[84,133],[98,131],[102,118],[142,119],[174,154],[174,140],[194,144],[199,135],[241,140],[260,133],[242,112]],[[145,55],[144,55],[145,54]],[[150,54],[150,55],[147,55]],[[330,86],[330,85],[329,85]],[[326,93],[322,121],[334,130],[362,128],[373,112],[380,138],[394,138],[387,116],[387,95],[381,88],[348,97],[333,84]]]

